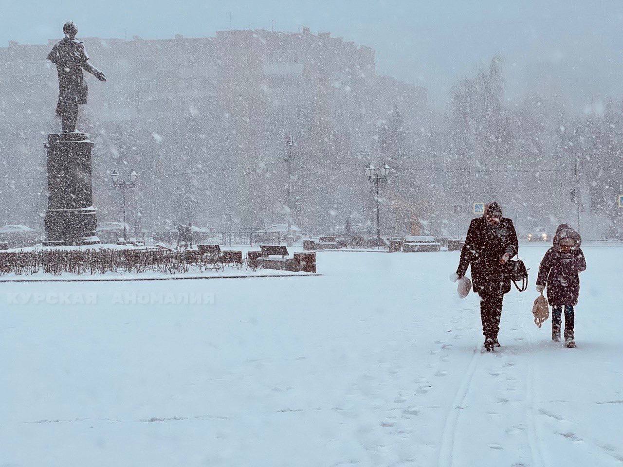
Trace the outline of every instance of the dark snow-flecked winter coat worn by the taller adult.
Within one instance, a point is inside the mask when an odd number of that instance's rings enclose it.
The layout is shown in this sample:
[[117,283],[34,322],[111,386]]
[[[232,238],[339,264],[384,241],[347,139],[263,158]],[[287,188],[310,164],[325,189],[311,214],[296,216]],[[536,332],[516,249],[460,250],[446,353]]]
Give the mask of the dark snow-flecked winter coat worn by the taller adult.
[[464,276],[467,267],[471,265],[473,291],[485,294],[507,293],[510,291],[510,277],[505,273],[506,265],[500,264],[500,258],[505,253],[512,258],[518,250],[512,220],[502,217],[500,224],[491,225],[484,215],[473,219],[461,250],[457,275]]

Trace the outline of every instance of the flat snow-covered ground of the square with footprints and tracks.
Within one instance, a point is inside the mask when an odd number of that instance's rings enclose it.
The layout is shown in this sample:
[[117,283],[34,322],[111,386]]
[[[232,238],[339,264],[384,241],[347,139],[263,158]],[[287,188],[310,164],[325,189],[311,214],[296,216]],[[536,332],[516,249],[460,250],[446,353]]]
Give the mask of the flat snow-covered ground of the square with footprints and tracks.
[[448,279],[457,252],[319,252],[311,277],[3,283],[0,465],[621,466],[623,247],[584,248],[565,349],[530,313],[547,246],[520,248],[531,285],[506,295],[495,354],[477,296]]

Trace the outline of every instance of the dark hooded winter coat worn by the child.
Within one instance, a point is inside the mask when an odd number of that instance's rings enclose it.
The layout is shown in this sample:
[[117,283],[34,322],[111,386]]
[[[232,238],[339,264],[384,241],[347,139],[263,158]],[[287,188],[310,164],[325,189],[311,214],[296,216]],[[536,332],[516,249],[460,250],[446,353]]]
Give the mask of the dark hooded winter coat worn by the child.
[[[561,238],[574,238],[576,245],[568,253],[560,250]],[[586,269],[586,259],[580,248],[582,239],[568,224],[562,224],[554,235],[554,246],[541,260],[536,285],[547,286],[547,299],[551,305],[578,304],[580,293],[579,273]]]

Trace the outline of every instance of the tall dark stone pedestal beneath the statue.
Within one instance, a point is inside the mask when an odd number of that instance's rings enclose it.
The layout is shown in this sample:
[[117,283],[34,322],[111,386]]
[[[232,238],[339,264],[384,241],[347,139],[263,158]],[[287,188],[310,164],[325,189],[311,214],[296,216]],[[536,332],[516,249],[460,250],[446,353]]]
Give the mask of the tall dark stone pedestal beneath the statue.
[[87,133],[52,133],[47,149],[47,212],[44,245],[90,245],[97,219],[91,187],[91,151]]

